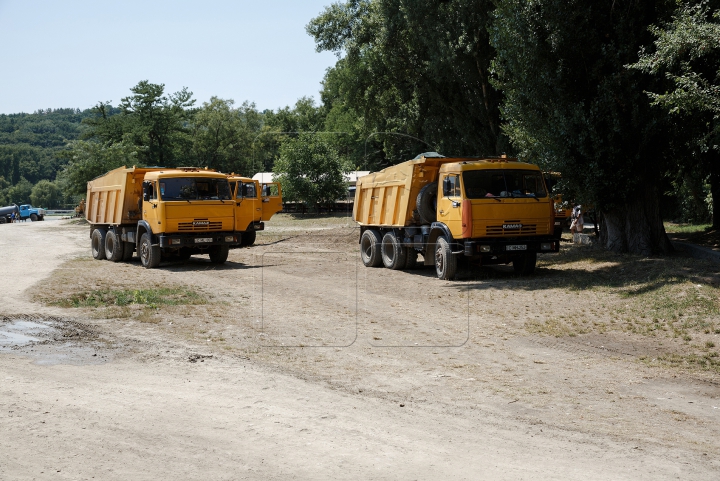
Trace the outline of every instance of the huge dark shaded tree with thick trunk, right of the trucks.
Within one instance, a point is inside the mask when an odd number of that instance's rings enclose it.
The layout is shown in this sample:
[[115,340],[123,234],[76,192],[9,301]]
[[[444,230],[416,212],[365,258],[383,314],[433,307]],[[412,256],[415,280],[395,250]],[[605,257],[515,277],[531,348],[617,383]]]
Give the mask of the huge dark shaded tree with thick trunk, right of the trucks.
[[662,175],[677,162],[676,127],[625,68],[669,18],[674,2],[501,0],[493,44],[504,129],[521,156],[560,171],[568,197],[601,211],[601,243],[668,253],[659,209]]

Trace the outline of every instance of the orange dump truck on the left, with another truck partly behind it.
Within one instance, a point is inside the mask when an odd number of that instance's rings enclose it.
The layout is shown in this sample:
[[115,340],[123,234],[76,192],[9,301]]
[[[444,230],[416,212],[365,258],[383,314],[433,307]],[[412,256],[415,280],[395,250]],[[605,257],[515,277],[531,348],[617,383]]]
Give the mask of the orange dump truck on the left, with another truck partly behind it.
[[234,232],[235,202],[227,176],[197,168],[120,167],[88,182],[85,218],[95,259],[144,267],[163,258],[208,254],[222,264]]

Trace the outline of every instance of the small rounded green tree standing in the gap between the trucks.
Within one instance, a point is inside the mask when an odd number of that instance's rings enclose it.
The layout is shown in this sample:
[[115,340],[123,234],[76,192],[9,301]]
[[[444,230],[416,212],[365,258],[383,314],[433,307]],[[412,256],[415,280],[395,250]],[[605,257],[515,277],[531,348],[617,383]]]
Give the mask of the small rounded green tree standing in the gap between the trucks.
[[280,147],[273,172],[283,197],[314,208],[347,195],[340,157],[321,135],[300,134]]

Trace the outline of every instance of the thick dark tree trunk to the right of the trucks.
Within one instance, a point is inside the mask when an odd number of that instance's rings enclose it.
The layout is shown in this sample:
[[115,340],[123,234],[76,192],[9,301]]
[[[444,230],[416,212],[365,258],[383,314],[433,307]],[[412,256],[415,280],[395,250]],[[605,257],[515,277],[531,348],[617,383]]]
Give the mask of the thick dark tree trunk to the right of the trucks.
[[645,185],[636,194],[630,203],[602,212],[600,243],[614,252],[670,254],[673,246],[662,223],[657,190]]

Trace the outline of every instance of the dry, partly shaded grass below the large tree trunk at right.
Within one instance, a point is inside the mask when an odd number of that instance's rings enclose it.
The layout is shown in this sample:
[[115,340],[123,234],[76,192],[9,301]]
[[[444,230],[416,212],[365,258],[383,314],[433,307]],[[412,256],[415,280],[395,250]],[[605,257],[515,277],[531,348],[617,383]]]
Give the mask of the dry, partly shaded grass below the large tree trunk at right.
[[[666,365],[720,372],[720,269],[695,259],[614,254],[569,245],[555,262],[560,284],[580,295],[563,315],[528,321],[531,333],[575,337],[607,332],[679,341],[656,358]],[[582,304],[583,308],[578,308]],[[660,342],[656,343],[660,345]]]

